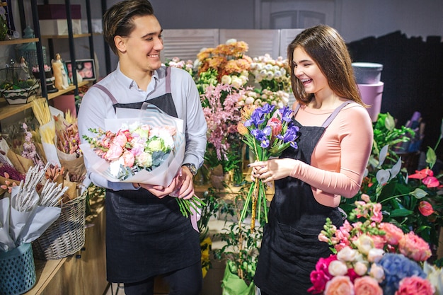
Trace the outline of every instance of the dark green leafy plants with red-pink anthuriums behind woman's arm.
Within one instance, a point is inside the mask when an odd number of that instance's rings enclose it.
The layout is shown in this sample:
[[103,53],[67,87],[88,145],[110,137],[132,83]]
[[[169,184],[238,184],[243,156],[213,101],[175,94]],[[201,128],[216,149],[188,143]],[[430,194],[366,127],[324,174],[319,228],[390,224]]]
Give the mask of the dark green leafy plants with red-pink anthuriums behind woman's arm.
[[435,149],[431,148],[427,151],[430,166],[408,175],[396,151],[398,144],[408,141],[409,136],[414,136],[412,129],[396,128],[389,113],[379,114],[374,123],[374,145],[362,187],[355,197],[343,198],[340,208],[349,215],[355,209],[354,202],[361,199],[362,194],[369,195],[371,202],[383,206],[385,222],[395,224],[405,233],[414,231],[435,251],[439,245],[439,229],[443,226],[442,185],[438,180],[442,175],[431,173],[436,161]]

